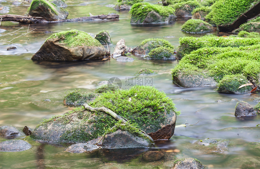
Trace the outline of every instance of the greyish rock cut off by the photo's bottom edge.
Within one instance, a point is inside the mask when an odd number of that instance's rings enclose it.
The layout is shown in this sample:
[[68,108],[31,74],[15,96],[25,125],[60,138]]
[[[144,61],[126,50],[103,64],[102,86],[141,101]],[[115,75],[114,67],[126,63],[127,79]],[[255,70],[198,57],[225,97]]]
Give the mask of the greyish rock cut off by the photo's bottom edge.
[[204,165],[201,164],[195,158],[182,158],[174,162],[174,166],[171,169],[203,169]]

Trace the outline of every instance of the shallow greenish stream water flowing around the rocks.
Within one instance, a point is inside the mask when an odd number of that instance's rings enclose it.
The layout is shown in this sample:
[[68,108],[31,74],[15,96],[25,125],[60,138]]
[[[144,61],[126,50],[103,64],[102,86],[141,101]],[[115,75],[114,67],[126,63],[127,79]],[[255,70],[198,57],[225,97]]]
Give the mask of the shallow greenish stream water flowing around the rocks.
[[[14,43],[27,48],[35,53],[52,33],[63,30],[78,29],[88,33],[98,33],[100,30],[108,30],[113,41],[110,45],[111,52],[116,42],[124,38],[127,46],[135,47],[143,39],[163,38],[169,40],[177,49],[180,37],[191,36],[180,31],[185,20],[177,20],[165,25],[137,26],[130,24],[130,15],[127,11],[115,11],[105,5],[115,4],[116,1],[66,1],[69,5],[68,18],[82,17],[89,13],[93,15],[117,13],[119,20],[114,21],[87,21],[68,23],[31,24],[29,30],[37,28],[26,36],[15,39]],[[156,3],[158,1],[148,1]],[[10,6],[8,14],[22,14],[29,4],[14,6],[11,1],[3,2]],[[2,36],[1,40],[12,38],[25,33],[27,24],[2,22],[1,28],[7,29],[5,33],[13,32],[24,27],[10,36]],[[170,38],[168,38],[170,36]],[[196,35],[201,36],[201,35]],[[172,83],[171,69],[177,61],[152,61],[140,57],[133,62],[118,62],[114,59],[106,61],[75,61],[75,62],[35,62],[31,60],[33,54],[25,49],[17,48],[15,51],[6,51],[11,44],[0,42],[0,125],[12,125],[18,129],[24,126],[34,128],[43,118],[61,115],[70,111],[71,107],[63,106],[63,97],[66,92],[81,89],[81,92],[91,92],[96,88],[100,80],[109,80],[118,77],[122,81],[123,88],[131,87],[130,79],[141,68],[149,68],[156,74],[151,76],[152,85],[160,91],[164,91],[176,104],[177,110],[181,110],[177,117],[177,125],[187,125],[175,129],[170,141],[159,145],[164,149],[165,157],[162,161],[164,168],[170,168],[173,161],[183,157],[193,157],[200,160],[209,168],[241,168],[246,161],[259,161],[259,153],[254,146],[260,142],[260,117],[253,119],[238,119],[234,116],[236,101],[238,99],[249,102],[252,106],[254,97],[260,97],[259,93],[232,95],[216,92],[214,88],[180,88]],[[143,77],[142,80],[145,81]],[[151,79],[150,79],[151,80]],[[135,80],[134,80],[135,82]],[[136,83],[138,83],[136,81]],[[144,83],[143,83],[144,84]],[[50,99],[48,105],[41,105],[38,101]],[[224,100],[225,102],[216,102]],[[22,137],[23,138],[23,137]],[[231,146],[228,151],[218,154],[206,154],[194,151],[187,147],[194,142],[205,138],[228,139]],[[0,138],[0,141],[5,141]],[[125,163],[112,163],[97,157],[86,155],[62,153],[64,147],[41,145],[33,140],[28,140],[34,147],[24,152],[0,152],[0,168],[36,168],[40,165],[49,165],[62,168],[154,168],[162,164],[162,161],[144,162],[140,158]],[[171,152],[171,151],[180,152]],[[45,159],[45,160],[42,160]]]

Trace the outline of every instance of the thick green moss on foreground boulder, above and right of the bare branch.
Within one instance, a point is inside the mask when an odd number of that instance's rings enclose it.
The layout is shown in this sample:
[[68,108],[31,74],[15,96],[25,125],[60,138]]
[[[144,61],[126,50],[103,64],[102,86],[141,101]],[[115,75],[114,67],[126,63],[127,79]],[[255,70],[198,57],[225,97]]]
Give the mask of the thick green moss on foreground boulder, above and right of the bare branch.
[[[132,101],[128,101],[130,97]],[[134,121],[147,133],[159,130],[160,125],[167,121],[165,113],[176,109],[165,93],[151,86],[133,86],[129,90],[102,93],[90,106],[109,108],[119,116]]]

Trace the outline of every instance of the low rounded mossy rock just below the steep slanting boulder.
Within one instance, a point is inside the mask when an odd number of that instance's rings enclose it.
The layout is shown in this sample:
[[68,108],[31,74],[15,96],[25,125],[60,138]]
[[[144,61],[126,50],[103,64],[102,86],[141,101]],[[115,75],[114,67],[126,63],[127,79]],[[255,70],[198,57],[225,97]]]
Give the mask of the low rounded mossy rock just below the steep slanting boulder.
[[212,26],[209,23],[200,19],[187,20],[181,27],[181,31],[187,33],[207,33],[212,30]]

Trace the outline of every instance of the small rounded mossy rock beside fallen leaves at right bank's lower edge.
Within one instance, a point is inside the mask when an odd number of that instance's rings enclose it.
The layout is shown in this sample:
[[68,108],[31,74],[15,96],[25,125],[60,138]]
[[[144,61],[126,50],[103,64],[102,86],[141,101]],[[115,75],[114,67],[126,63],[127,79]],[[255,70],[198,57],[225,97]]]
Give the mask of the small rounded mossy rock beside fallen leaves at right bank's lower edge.
[[247,79],[242,74],[235,74],[235,75],[225,75],[219,81],[219,88],[217,91],[226,92],[226,93],[248,93],[252,90],[250,86],[245,86],[240,89],[239,86],[247,83]]

